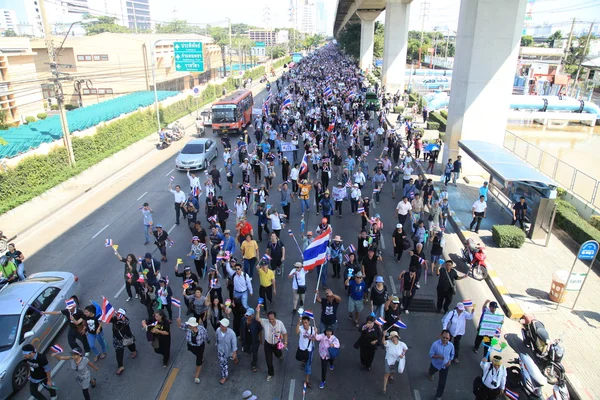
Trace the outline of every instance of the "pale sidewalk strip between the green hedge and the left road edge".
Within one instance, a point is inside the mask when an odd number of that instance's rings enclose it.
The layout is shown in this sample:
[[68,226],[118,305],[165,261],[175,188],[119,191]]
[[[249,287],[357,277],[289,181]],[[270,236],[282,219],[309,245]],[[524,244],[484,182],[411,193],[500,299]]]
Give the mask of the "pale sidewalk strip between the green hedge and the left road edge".
[[[282,68],[278,69],[276,76],[281,76],[282,71]],[[263,88],[264,85],[257,79],[253,82],[250,90],[256,96]],[[200,110],[209,109],[210,106],[211,104],[207,104]],[[92,189],[98,189],[102,182],[114,177],[120,171],[132,168],[133,164],[147,163],[149,157],[152,157],[150,159],[152,165],[164,162],[179,152],[189,139],[196,135],[195,119],[195,111],[179,119],[186,128],[186,136],[182,140],[174,142],[167,149],[156,150],[158,137],[151,134],[27,203],[0,215],[0,230],[8,238],[17,236],[23,238],[32,227],[39,226],[48,216],[61,212],[66,206],[72,205],[72,202],[81,201],[84,194]],[[205,134],[204,137],[208,136]]]

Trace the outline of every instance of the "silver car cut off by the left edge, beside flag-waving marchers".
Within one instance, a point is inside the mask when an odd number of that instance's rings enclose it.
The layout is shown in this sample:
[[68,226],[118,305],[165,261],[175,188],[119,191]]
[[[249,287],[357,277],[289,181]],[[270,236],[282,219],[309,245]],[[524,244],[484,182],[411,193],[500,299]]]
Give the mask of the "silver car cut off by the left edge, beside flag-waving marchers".
[[[64,310],[65,301],[77,299],[78,294],[77,276],[58,271],[32,274],[0,291],[0,399],[27,383],[29,367],[23,359],[23,346],[31,343],[44,352],[67,321],[63,315],[38,311]],[[19,299],[31,307],[24,307]]]

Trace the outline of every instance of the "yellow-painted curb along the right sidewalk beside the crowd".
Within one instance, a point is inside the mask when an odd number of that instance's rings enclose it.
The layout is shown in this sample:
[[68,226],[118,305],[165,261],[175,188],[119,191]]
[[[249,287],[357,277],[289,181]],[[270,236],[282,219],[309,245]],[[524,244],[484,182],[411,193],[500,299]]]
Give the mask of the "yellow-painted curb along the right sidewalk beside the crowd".
[[[386,114],[385,119],[387,125],[391,128],[395,129],[396,123],[391,123],[388,119],[389,114]],[[413,161],[413,166],[415,167],[415,171],[418,171],[419,175],[425,176],[425,172],[423,171],[423,167],[421,163],[417,160]],[[436,198],[439,198],[438,188],[435,187],[434,184],[434,193]],[[460,218],[456,216],[456,213],[450,208],[450,215],[448,217],[448,221],[452,228],[456,231],[456,234],[460,238],[462,244],[464,245],[467,242],[467,238],[469,237],[477,237],[472,234],[462,223]],[[477,237],[478,238],[478,237]],[[486,263],[488,269],[488,277],[486,278],[486,282],[489,288],[492,290],[494,297],[498,301],[498,303],[502,306],[504,313],[510,319],[520,319],[524,312],[521,306],[517,303],[517,301],[510,295],[506,285],[502,282],[496,270],[490,265],[489,262]]]

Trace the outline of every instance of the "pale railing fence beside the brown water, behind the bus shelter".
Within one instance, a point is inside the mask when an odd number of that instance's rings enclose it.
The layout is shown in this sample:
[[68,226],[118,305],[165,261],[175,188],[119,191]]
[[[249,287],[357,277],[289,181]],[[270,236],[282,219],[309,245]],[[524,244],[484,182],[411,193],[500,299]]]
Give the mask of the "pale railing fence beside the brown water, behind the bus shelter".
[[598,196],[600,181],[598,179],[561,161],[510,131],[506,131],[506,135],[504,135],[504,147],[554,179],[561,188],[580,197],[592,207],[600,209],[600,196]]

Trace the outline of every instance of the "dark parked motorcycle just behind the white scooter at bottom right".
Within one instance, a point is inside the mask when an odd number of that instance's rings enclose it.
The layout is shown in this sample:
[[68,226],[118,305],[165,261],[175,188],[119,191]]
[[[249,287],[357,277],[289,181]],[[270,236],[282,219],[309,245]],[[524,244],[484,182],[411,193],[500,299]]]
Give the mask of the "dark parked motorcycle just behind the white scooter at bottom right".
[[524,315],[520,322],[523,326],[521,329],[523,342],[535,354],[543,374],[548,378],[548,383],[555,384],[564,380],[565,369],[561,362],[565,355],[565,348],[561,344],[561,339],[551,340],[544,324],[531,315]]

